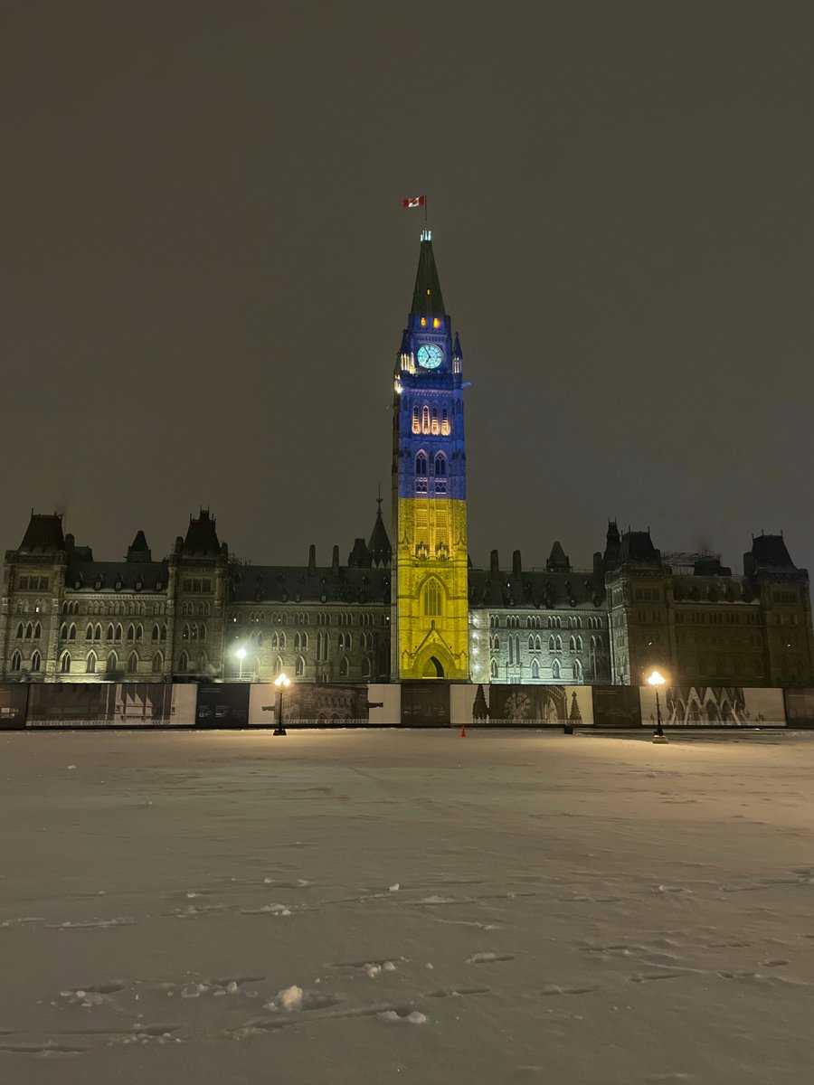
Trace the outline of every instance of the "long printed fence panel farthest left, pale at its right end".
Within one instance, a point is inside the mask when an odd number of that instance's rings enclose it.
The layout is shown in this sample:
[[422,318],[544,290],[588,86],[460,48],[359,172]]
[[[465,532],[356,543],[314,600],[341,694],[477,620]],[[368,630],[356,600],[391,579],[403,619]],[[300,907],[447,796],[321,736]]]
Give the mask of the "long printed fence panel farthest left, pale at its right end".
[[26,727],[191,727],[195,686],[48,682],[28,687]]

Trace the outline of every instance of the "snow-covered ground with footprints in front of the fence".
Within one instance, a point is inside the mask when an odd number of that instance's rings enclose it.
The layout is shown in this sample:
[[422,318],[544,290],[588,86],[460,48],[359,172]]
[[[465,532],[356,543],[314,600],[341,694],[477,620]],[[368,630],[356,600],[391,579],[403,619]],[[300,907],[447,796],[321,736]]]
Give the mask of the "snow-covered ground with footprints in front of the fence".
[[0,733],[5,1085],[785,1085],[814,733]]

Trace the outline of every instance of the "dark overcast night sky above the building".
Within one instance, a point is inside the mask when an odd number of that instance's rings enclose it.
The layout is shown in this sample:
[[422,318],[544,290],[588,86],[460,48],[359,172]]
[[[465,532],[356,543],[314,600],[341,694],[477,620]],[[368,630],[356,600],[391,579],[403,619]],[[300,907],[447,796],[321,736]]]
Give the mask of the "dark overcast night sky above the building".
[[608,516],[814,566],[814,8],[0,2],[0,546],[209,506],[320,561],[389,494],[427,192],[470,551]]

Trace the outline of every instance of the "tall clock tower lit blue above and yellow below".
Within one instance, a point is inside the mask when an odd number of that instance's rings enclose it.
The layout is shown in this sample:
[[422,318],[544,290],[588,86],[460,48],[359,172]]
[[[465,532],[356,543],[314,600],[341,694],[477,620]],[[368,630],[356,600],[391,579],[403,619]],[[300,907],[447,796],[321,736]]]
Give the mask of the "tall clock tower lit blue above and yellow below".
[[462,362],[424,230],[394,381],[394,680],[469,680]]

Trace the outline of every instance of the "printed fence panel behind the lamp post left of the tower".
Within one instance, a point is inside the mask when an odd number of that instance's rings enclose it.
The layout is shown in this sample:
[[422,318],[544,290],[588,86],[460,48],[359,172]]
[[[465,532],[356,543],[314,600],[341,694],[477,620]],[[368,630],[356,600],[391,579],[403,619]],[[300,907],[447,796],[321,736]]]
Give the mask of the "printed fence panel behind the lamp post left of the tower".
[[[244,687],[246,688],[246,687]],[[399,686],[274,682],[247,687],[250,727],[397,727]]]

